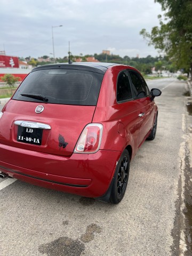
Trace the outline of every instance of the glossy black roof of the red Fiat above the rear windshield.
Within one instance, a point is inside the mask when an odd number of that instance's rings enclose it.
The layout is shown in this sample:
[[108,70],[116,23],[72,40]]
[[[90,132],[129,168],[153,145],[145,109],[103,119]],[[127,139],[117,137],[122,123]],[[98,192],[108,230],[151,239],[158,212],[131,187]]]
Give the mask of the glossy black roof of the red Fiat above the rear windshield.
[[44,69],[81,69],[85,71],[93,71],[100,74],[105,74],[107,69],[110,66],[117,66],[118,64],[115,63],[105,63],[105,62],[73,62],[69,64],[66,63],[57,63],[57,64],[50,64],[50,65],[43,65],[34,68],[31,72],[37,70],[44,70]]

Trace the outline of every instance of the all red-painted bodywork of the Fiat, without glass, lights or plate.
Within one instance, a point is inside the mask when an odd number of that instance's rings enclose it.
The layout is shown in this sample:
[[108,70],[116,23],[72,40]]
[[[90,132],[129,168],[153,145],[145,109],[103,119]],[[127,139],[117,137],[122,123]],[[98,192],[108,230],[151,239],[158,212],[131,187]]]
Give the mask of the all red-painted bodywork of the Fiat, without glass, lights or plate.
[[[124,69],[136,70],[124,65],[108,67],[97,106],[42,102],[44,111],[36,114],[34,110],[39,102],[10,100],[0,119],[0,171],[34,185],[68,193],[87,197],[105,194],[123,150],[129,147],[130,157],[134,157],[157,115],[157,106],[150,97],[117,103],[117,77]],[[139,117],[141,113],[145,116]],[[41,146],[17,141],[18,125],[14,122],[21,120],[51,126],[51,130],[43,131]],[[73,153],[89,123],[103,125],[99,151]],[[59,148],[59,134],[68,143],[66,148]]]

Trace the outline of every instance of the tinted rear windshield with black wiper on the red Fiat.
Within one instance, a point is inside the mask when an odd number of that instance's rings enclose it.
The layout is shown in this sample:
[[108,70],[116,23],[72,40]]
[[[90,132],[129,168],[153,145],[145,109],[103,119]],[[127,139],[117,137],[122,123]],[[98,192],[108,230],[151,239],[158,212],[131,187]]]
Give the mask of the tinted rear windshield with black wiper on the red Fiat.
[[42,102],[37,99],[40,95],[47,103],[95,106],[102,78],[102,74],[84,70],[37,70],[26,77],[13,99]]

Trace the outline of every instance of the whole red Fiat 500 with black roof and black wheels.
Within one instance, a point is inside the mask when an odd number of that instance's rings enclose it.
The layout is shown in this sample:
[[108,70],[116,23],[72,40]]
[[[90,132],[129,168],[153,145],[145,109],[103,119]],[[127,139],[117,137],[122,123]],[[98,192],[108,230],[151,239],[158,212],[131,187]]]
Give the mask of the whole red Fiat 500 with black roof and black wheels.
[[0,112],[0,171],[119,203],[130,160],[147,138],[155,138],[159,95],[130,66],[34,68]]

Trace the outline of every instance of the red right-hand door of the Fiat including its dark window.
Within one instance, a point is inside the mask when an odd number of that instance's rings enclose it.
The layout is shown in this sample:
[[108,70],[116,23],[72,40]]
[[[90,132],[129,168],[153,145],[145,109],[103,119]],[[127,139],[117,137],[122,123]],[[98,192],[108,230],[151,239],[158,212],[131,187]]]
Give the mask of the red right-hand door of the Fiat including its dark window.
[[146,140],[151,127],[153,127],[155,115],[154,102],[151,101],[150,91],[143,77],[135,70],[129,70],[129,75],[140,120],[138,143],[138,147],[140,147],[143,141]]

